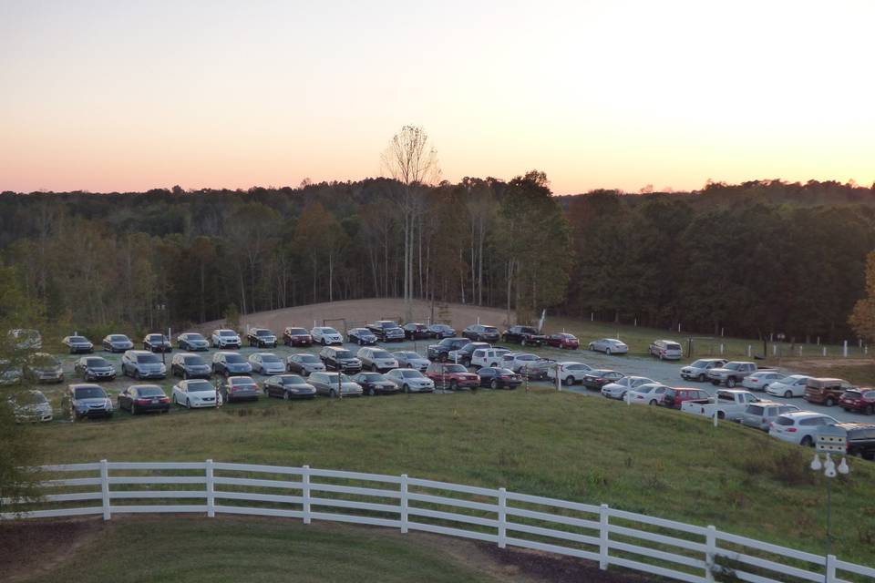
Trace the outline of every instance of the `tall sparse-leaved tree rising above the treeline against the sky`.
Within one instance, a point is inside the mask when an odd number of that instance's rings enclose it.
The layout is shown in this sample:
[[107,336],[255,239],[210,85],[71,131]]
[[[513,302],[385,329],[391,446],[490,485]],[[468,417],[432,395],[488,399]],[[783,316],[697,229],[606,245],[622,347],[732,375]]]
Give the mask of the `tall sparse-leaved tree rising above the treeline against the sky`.
[[381,156],[381,162],[386,174],[396,179],[401,187],[397,202],[403,218],[404,304],[405,318],[409,321],[413,318],[416,227],[424,209],[422,187],[433,184],[440,178],[438,150],[428,142],[425,129],[405,126],[389,141]]

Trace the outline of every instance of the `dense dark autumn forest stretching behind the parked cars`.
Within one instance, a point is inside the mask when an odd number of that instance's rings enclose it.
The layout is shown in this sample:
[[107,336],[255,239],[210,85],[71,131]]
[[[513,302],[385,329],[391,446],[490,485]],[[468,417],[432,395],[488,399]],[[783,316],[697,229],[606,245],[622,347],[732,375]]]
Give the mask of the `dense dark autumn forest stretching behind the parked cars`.
[[[403,212],[402,212],[403,210]],[[71,324],[137,330],[331,300],[548,309],[727,334],[852,338],[875,191],[780,180],[551,195],[530,172],[249,190],[0,194],[0,252]]]

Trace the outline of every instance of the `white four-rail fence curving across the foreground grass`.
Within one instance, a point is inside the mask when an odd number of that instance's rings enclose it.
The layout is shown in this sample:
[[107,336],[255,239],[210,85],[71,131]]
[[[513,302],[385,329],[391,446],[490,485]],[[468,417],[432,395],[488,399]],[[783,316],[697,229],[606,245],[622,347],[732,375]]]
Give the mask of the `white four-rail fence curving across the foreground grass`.
[[[543,496],[273,465],[117,463],[46,465],[43,500],[4,500],[0,518],[203,513],[335,520],[420,530],[631,568],[691,583],[873,581],[875,568],[832,555],[633,512]],[[60,477],[63,476],[63,477]],[[92,503],[83,505],[82,503]],[[46,507],[52,506],[52,507]]]

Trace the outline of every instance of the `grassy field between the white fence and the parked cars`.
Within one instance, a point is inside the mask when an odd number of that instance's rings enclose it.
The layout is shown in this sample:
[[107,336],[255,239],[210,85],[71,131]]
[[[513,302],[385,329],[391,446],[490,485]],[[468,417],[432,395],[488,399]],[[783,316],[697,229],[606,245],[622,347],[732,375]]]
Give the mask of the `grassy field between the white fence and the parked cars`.
[[[127,415],[119,413],[118,415]],[[822,553],[825,478],[812,451],[736,424],[601,397],[395,395],[36,427],[47,463],[216,461],[424,477],[612,506]],[[875,564],[875,465],[833,482],[834,552]],[[249,544],[249,543],[247,543]]]

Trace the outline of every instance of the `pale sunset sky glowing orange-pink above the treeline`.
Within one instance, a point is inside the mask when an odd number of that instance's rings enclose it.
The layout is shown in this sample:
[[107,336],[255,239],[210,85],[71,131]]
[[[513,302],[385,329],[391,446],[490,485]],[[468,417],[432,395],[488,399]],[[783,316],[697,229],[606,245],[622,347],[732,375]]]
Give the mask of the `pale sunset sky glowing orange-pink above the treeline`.
[[0,190],[875,180],[875,3],[0,0]]

